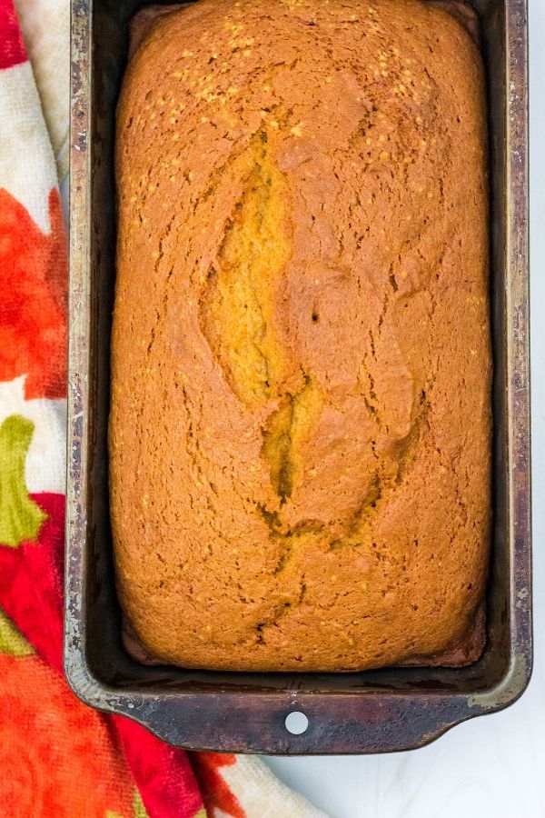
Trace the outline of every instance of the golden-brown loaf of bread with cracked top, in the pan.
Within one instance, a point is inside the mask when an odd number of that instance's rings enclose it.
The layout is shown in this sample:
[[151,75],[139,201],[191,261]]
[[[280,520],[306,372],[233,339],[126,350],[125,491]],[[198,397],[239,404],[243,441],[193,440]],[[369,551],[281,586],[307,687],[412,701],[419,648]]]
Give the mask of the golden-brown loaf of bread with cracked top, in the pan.
[[149,29],[119,104],[111,414],[148,653],[478,652],[484,146],[478,51],[420,0],[201,0]]

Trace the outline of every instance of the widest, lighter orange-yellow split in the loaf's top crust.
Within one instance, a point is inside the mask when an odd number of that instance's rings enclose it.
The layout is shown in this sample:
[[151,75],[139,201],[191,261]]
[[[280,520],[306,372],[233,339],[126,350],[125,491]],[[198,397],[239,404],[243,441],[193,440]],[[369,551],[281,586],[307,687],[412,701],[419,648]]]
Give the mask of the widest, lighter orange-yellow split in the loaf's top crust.
[[274,327],[274,300],[292,248],[286,230],[287,185],[256,134],[241,199],[225,226],[201,299],[203,331],[233,392],[250,407],[279,396],[285,364]]

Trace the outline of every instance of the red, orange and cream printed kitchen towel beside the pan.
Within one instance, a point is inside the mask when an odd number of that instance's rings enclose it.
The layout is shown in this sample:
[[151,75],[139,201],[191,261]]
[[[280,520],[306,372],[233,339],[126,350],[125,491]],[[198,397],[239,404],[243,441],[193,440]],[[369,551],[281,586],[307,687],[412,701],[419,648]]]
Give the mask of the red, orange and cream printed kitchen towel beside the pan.
[[68,5],[16,5],[32,64],[0,0],[0,815],[324,818],[259,760],[173,749],[64,681]]

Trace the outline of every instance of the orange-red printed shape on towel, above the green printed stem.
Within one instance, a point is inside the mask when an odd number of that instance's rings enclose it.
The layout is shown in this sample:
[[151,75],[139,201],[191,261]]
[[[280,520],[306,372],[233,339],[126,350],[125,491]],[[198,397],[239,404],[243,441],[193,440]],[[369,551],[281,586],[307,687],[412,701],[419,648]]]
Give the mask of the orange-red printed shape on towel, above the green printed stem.
[[25,396],[66,394],[67,260],[61,201],[49,194],[51,232],[0,189],[0,381],[26,375]]

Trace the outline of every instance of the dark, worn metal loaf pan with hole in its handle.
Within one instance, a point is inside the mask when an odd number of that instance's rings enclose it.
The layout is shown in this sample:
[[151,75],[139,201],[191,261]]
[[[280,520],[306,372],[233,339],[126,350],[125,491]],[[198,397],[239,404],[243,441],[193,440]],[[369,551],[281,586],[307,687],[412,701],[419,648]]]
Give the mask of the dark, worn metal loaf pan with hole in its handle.
[[[512,703],[530,679],[530,414],[526,0],[473,0],[490,110],[494,526],[487,645],[465,668],[351,674],[144,667],[124,653],[108,514],[114,289],[114,108],[137,0],[73,0],[70,374],[64,664],[85,702],[167,742],[253,753],[421,746]],[[284,720],[306,713],[292,735]]]

